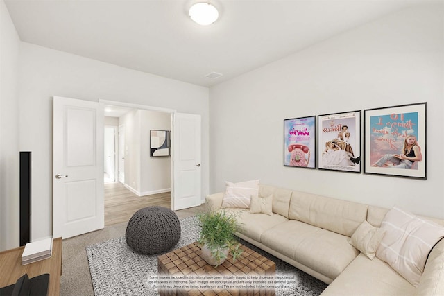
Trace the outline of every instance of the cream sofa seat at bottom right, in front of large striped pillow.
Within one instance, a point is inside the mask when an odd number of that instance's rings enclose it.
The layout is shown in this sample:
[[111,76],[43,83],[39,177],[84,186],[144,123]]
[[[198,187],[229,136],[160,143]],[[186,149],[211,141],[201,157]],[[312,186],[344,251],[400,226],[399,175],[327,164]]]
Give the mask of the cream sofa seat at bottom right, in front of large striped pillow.
[[361,253],[321,296],[406,296],[413,295],[415,290],[387,263],[377,257],[370,260]]

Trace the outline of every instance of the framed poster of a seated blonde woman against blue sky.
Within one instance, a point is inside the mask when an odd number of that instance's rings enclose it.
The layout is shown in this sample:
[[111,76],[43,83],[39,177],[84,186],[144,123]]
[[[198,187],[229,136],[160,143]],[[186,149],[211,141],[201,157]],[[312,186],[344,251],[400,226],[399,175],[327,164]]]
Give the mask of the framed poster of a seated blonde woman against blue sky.
[[364,110],[364,173],[427,179],[427,103]]

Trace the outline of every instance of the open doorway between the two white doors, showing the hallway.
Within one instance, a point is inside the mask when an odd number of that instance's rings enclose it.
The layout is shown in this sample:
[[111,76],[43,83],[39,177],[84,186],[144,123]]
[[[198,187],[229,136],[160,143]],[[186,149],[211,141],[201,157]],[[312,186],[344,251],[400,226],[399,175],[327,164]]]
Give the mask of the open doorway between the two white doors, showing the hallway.
[[[112,171],[110,160],[117,155],[115,177],[108,173],[105,177],[111,178],[104,179],[105,225],[132,215],[137,207],[170,207],[171,157],[151,157],[150,134],[151,130],[171,130],[171,114],[108,104],[104,110],[105,174]],[[117,130],[115,137],[107,132],[111,129]]]

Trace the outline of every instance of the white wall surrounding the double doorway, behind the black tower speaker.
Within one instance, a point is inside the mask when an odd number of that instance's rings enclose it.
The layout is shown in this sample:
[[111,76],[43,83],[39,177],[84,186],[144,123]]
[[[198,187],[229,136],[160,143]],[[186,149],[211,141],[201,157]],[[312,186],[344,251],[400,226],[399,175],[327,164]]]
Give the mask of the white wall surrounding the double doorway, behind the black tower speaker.
[[[19,148],[33,151],[33,239],[52,234],[53,96],[120,101],[200,114],[203,119],[202,194],[208,193],[209,107],[206,87],[21,42]],[[3,213],[3,209],[1,211]]]

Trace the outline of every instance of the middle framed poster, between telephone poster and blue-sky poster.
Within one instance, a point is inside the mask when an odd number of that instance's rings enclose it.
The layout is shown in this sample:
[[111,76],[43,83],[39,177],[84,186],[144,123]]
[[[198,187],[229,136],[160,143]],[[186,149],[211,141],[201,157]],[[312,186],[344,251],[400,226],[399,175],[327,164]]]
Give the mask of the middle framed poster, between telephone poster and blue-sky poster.
[[361,173],[361,110],[318,115],[318,168]]

